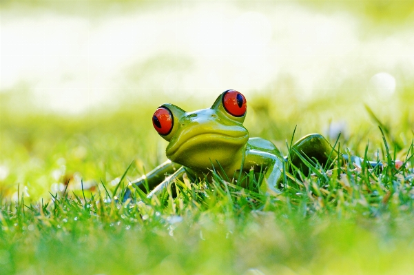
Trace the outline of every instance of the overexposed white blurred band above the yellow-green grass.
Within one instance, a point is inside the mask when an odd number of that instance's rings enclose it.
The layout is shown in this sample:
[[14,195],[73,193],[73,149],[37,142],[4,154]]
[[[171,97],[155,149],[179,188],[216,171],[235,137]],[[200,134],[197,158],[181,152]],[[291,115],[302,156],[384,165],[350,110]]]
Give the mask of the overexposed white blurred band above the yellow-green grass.
[[127,92],[249,94],[289,76],[298,96],[354,78],[390,94],[414,77],[409,24],[382,34],[353,14],[281,3],[173,2],[98,17],[3,9],[0,91],[25,83],[43,107],[76,113]]

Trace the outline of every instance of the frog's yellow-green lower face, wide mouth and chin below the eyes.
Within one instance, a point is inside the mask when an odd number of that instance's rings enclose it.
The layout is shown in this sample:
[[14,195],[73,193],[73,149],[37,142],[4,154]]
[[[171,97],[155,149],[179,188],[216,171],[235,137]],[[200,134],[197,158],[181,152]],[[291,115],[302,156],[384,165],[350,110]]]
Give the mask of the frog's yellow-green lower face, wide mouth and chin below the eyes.
[[238,154],[248,139],[248,133],[240,136],[197,134],[184,143],[168,146],[167,158],[196,170],[205,170],[217,162],[223,167],[229,166],[241,157]]

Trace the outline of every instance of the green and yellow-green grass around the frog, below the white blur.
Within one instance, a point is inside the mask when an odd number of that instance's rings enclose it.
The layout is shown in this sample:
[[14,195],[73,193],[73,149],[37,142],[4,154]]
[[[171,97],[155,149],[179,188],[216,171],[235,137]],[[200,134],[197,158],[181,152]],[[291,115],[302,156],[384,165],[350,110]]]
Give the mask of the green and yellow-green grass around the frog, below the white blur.
[[[328,108],[321,106],[331,98],[292,111],[283,109],[290,99],[278,94],[273,95],[278,100],[248,99],[245,124],[251,136],[270,139],[286,153],[295,125],[293,139],[344,117],[352,134],[342,134],[336,147],[364,159],[375,160],[377,154],[383,171],[336,162],[315,167],[310,175],[294,170],[285,175],[281,194],[270,196],[218,175],[196,183],[185,179],[176,183],[176,197],[168,190],[145,204],[116,197],[127,181],[165,159],[165,143],[143,119],[159,102],[68,118],[17,112],[2,96],[0,165],[8,175],[0,181],[0,274],[410,274],[414,269],[413,99],[404,99],[404,93],[393,99],[400,110],[394,116],[389,115],[393,102],[385,108],[371,104],[370,114],[337,97],[328,119]],[[177,104],[185,110],[206,107]],[[395,159],[404,161],[400,169]]]

